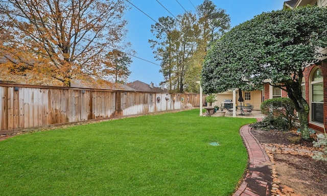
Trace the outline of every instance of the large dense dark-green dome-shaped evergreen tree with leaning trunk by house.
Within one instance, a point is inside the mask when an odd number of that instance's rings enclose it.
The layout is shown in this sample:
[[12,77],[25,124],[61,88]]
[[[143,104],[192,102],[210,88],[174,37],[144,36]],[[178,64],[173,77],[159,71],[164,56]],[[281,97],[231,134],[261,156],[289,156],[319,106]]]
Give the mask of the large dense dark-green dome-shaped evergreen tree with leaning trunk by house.
[[309,139],[309,105],[301,82],[306,67],[324,56],[327,8],[301,7],[255,16],[226,33],[209,50],[202,68],[205,92],[269,85],[286,91],[299,114],[303,139]]

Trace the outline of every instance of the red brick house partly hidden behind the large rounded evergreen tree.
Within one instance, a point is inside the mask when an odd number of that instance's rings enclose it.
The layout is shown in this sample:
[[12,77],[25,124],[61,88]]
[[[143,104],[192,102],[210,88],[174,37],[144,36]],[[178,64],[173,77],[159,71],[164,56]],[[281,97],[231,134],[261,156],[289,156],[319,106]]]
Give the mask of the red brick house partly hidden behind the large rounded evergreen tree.
[[[327,6],[327,0],[292,0],[284,2],[284,9],[293,9],[301,6]],[[327,48],[320,48],[322,53],[327,54]],[[309,127],[324,131],[327,127],[327,59],[321,59],[320,65],[311,65],[303,72],[302,96],[310,106]],[[269,81],[267,81],[269,82]],[[287,97],[287,93],[269,84],[264,86],[263,100],[275,97]]]

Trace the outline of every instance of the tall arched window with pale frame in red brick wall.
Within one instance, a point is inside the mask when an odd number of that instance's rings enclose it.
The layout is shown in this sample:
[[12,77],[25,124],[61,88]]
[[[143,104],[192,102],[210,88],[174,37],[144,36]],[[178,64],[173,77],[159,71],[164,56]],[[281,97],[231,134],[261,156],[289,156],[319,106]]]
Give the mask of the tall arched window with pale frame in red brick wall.
[[311,77],[311,121],[323,124],[323,82],[320,68]]

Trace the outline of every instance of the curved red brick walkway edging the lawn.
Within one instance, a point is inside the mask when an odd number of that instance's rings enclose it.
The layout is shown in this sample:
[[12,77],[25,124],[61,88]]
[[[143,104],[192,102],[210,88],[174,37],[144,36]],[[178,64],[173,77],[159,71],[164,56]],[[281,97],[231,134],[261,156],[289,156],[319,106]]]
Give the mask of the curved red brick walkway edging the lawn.
[[271,162],[263,146],[251,134],[250,129],[248,125],[240,129],[248,151],[249,162],[245,179],[233,196],[271,195]]

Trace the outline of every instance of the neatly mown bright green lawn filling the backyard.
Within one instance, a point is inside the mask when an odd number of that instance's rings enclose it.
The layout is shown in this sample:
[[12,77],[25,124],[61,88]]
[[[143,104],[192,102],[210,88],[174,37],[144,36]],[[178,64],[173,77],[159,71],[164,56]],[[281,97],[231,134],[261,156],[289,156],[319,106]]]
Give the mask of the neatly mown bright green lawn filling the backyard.
[[15,136],[0,142],[0,195],[230,195],[254,121],[195,109]]

